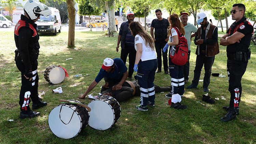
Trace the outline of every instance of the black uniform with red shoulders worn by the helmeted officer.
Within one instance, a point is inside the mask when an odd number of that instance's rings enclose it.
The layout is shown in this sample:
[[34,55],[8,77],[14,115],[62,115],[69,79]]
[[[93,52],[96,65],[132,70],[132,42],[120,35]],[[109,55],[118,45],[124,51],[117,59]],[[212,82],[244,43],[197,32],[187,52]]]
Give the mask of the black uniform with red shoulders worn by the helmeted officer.
[[[29,103],[32,100],[33,109],[44,106],[47,103],[42,102],[38,97],[38,55],[39,55],[39,35],[37,25],[26,16],[21,15],[20,20],[15,26],[14,39],[17,50],[15,51],[15,62],[18,70],[21,72],[22,86],[19,93],[19,104],[22,112],[30,112]],[[24,76],[32,77],[32,80]]]

